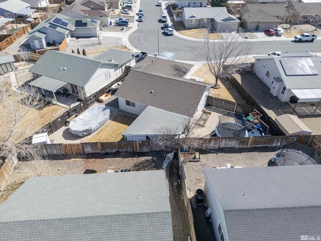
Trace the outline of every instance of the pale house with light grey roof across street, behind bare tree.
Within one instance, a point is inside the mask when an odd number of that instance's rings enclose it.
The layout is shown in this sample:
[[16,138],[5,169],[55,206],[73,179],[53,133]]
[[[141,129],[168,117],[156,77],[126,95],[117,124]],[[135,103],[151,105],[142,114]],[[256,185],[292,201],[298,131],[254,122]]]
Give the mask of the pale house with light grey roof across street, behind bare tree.
[[227,13],[225,7],[184,8],[182,21],[187,29],[214,28],[217,32],[236,31],[240,21]]

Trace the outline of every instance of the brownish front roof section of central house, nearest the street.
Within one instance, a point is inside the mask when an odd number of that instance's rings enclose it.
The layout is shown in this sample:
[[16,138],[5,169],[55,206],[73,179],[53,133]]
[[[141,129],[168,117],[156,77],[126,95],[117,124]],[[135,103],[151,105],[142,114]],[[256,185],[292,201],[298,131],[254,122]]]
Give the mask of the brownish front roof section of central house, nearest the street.
[[[152,63],[151,60],[153,61]],[[192,68],[192,64],[148,56],[136,64],[132,69],[136,69],[144,73],[163,74],[170,77],[183,78]]]

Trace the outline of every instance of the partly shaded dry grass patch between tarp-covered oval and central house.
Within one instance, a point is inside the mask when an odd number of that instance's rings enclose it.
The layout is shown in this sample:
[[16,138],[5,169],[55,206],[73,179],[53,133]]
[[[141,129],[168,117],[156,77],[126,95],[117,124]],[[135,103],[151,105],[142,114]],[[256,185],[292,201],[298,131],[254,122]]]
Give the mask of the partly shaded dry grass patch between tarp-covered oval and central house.
[[118,142],[123,139],[122,133],[135,121],[135,118],[125,114],[117,114],[107,125],[104,125],[96,135],[85,142]]

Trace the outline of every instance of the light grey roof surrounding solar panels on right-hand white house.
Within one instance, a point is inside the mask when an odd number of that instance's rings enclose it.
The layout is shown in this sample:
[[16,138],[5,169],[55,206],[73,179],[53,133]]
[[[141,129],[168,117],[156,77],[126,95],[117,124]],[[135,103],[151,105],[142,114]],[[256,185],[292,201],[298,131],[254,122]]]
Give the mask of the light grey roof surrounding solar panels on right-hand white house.
[[[321,75],[321,58],[319,56],[309,56],[310,53],[297,53],[296,56],[294,53],[289,53],[289,57],[283,57],[287,56],[285,53],[282,54],[282,57],[272,57],[266,58],[266,56],[255,56],[254,58],[256,60],[261,61],[263,64],[269,64],[269,68],[273,71],[273,69],[277,69],[278,71],[275,71],[276,73],[280,73],[280,77],[283,82],[285,83],[285,86],[288,89],[317,89],[321,88],[321,81],[320,81],[320,75]],[[291,75],[287,76],[283,70],[282,64],[280,60],[282,59],[306,59],[309,58],[312,60],[312,63],[317,71],[317,75]],[[271,62],[272,61],[272,62]]]

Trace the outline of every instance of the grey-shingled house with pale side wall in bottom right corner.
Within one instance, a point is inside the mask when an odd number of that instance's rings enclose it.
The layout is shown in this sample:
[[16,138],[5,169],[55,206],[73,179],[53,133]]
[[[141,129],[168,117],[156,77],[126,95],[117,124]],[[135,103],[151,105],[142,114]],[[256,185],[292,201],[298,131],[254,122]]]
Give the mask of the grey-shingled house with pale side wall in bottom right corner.
[[320,165],[206,169],[203,173],[217,241],[307,240],[302,238],[319,233]]

